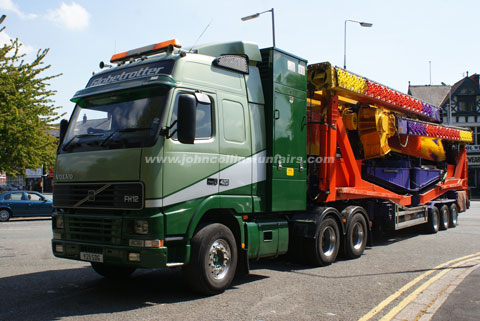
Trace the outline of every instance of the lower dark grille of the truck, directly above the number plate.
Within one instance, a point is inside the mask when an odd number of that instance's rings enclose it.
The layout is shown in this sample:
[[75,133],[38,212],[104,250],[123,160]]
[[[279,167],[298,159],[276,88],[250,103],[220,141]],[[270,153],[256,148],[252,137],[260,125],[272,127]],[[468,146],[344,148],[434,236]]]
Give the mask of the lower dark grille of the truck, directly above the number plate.
[[[118,244],[121,241],[121,218],[88,216],[66,217],[66,235],[72,241]],[[97,251],[92,251],[97,253]]]

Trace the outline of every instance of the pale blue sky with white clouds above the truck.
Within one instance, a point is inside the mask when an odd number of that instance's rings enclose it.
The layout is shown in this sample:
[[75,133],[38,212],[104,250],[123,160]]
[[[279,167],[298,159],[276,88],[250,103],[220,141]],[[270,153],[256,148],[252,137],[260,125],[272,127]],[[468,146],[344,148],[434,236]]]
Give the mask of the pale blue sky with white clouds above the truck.
[[478,12],[475,0],[443,1],[55,1],[0,0],[6,29],[0,42],[19,38],[27,57],[50,48],[48,74],[56,105],[69,116],[69,101],[83,88],[100,61],[117,52],[177,38],[183,46],[246,40],[272,45],[271,16],[242,22],[241,17],[275,9],[276,45],[308,59],[343,65],[344,21],[347,24],[347,69],[406,92],[413,85],[453,84],[480,73]]

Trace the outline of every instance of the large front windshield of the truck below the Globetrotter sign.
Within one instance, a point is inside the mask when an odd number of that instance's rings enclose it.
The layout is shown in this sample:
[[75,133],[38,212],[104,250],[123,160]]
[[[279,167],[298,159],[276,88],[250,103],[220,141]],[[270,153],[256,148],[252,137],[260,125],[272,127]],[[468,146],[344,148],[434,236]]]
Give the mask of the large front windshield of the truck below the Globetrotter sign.
[[130,90],[77,103],[60,153],[151,146],[168,88]]

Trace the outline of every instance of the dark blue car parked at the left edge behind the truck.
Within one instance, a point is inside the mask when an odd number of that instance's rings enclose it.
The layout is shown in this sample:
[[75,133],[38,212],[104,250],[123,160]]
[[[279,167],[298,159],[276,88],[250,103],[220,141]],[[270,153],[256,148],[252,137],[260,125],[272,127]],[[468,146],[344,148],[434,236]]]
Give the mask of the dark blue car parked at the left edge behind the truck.
[[51,216],[52,200],[38,192],[9,191],[0,194],[0,222],[17,216]]

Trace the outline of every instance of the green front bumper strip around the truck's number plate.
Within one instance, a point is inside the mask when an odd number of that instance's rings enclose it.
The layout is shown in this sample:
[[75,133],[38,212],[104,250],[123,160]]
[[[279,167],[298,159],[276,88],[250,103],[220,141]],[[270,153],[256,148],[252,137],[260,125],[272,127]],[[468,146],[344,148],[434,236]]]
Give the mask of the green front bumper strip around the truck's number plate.
[[[63,246],[63,252],[57,252],[57,245]],[[103,255],[103,263],[134,268],[162,268],[167,266],[167,247],[139,248],[131,246],[82,243],[64,240],[52,240],[52,252],[56,257],[83,261],[80,252]],[[129,253],[139,253],[140,262],[128,260]]]

